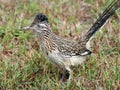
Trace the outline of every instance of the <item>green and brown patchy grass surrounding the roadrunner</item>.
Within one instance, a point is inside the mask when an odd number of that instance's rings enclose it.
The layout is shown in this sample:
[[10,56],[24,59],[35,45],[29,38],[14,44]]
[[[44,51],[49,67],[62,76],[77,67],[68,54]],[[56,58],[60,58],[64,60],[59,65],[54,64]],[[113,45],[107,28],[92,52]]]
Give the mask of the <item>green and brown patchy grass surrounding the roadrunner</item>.
[[46,57],[32,31],[24,32],[42,12],[64,38],[83,36],[112,0],[1,0],[0,90],[119,90],[120,10],[92,40],[94,54],[76,66],[70,83]]

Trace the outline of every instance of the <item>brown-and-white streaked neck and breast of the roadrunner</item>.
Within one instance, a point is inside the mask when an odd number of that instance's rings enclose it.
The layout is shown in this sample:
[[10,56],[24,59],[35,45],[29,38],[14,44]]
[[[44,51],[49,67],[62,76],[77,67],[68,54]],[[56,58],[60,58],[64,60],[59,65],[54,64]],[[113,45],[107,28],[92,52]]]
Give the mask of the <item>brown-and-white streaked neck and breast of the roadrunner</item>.
[[48,54],[55,50],[56,43],[54,40],[55,34],[52,32],[50,26],[41,27],[40,39],[42,43],[43,51]]

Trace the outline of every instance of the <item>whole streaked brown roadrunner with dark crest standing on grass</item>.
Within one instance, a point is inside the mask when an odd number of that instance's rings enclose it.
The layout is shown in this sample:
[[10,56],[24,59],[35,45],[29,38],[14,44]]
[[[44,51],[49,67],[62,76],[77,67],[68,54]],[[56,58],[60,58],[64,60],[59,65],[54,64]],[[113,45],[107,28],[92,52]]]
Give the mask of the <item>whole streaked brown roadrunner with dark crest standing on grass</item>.
[[120,0],[114,0],[79,42],[63,39],[53,33],[47,16],[42,13],[37,14],[32,24],[23,29],[34,30],[38,33],[45,56],[64,70],[62,79],[64,79],[67,71],[69,73],[68,79],[70,80],[72,78],[72,70],[70,67],[81,64],[86,60],[86,57],[92,53],[86,48],[87,42],[119,7]]

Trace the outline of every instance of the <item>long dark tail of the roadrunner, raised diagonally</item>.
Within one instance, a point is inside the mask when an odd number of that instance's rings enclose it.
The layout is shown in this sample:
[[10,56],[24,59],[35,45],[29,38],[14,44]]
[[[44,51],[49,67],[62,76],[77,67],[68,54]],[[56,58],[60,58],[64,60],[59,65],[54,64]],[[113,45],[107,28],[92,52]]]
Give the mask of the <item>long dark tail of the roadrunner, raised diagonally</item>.
[[113,0],[113,2],[104,10],[104,12],[100,15],[100,17],[96,20],[96,22],[93,24],[93,26],[89,29],[89,31],[80,42],[82,42],[82,44],[86,44],[119,7],[120,0]]

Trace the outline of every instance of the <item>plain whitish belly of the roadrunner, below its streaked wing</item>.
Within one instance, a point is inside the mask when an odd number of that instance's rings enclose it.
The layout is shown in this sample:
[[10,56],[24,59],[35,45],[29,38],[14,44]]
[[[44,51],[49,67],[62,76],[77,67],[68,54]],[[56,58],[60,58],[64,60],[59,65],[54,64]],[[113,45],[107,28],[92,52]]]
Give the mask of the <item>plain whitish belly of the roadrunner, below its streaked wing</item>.
[[63,55],[58,51],[49,54],[48,58],[62,67],[79,65],[86,60],[86,56],[68,56]]

